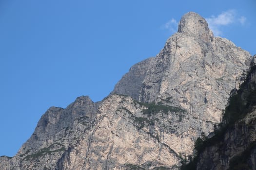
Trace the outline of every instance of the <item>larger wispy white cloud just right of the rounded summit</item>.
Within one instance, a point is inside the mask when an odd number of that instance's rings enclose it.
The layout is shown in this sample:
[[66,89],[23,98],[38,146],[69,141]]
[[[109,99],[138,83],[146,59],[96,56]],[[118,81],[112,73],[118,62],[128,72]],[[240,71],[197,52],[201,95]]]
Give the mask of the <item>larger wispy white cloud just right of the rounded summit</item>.
[[244,25],[246,21],[246,17],[238,16],[236,14],[236,10],[228,10],[225,12],[222,12],[217,17],[211,16],[209,18],[206,18],[209,28],[213,31],[213,33],[216,36],[222,35],[221,28],[223,26],[228,26],[234,23],[239,23],[241,25]]

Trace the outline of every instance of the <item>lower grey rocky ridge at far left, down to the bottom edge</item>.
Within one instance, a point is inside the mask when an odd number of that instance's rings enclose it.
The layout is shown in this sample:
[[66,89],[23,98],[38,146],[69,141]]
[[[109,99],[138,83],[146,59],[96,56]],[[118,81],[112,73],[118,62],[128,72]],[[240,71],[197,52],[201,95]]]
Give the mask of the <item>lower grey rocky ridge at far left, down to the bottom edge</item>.
[[0,169],[5,170],[3,167],[8,163],[14,170],[54,170],[71,140],[74,142],[80,136],[79,123],[84,129],[89,128],[88,124],[95,119],[99,104],[92,102],[88,96],[81,96],[66,109],[50,107],[18,153],[8,162],[0,159]]

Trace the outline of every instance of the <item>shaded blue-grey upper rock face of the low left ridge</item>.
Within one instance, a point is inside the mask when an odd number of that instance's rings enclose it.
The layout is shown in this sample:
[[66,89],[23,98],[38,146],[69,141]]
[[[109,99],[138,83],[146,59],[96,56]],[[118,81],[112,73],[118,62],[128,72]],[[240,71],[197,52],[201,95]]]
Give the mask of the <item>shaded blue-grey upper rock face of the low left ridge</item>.
[[76,119],[81,117],[86,121],[95,119],[98,106],[99,102],[94,103],[88,96],[81,96],[66,109],[50,107],[40,118],[32,136],[21,147],[21,154],[27,152],[27,149],[24,148],[29,148],[29,151],[33,153],[39,148],[49,146],[53,141],[65,137],[62,131],[74,126]]

